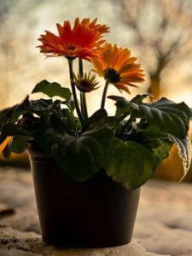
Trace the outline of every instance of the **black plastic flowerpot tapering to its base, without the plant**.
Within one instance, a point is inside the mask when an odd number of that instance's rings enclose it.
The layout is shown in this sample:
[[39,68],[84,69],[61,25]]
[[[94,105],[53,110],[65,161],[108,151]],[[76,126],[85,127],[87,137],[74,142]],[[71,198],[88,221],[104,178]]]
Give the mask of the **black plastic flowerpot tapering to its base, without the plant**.
[[27,152],[45,242],[63,247],[115,247],[131,241],[140,189],[125,189],[103,170],[77,183],[34,145]]

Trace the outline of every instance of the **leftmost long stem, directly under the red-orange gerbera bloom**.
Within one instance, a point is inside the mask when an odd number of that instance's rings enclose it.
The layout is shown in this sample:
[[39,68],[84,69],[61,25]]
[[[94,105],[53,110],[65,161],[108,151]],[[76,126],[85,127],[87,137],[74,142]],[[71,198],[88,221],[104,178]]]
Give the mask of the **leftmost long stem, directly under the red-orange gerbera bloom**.
[[76,111],[78,113],[79,120],[80,120],[81,124],[83,124],[84,118],[83,118],[82,113],[79,108],[78,97],[77,97],[76,90],[75,90],[75,84],[73,82],[73,60],[68,59],[68,67],[69,67],[71,87],[72,87],[72,92],[73,92],[74,105],[75,105]]

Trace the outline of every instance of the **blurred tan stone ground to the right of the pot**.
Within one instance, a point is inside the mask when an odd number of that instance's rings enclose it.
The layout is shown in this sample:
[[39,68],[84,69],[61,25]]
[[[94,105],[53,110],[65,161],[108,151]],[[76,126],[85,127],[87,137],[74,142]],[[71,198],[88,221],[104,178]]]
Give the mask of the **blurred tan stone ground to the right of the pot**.
[[192,185],[154,180],[144,185],[134,237],[149,252],[192,255]]

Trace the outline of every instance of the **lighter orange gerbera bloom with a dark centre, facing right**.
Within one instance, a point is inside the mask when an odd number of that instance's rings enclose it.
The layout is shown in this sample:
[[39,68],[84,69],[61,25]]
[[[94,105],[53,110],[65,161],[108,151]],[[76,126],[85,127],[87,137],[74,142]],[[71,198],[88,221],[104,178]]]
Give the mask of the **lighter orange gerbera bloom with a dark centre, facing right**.
[[137,58],[131,57],[128,49],[118,48],[116,44],[105,44],[98,55],[91,59],[94,72],[108,80],[110,84],[122,91],[130,93],[127,85],[138,87],[135,83],[143,83],[144,74]]

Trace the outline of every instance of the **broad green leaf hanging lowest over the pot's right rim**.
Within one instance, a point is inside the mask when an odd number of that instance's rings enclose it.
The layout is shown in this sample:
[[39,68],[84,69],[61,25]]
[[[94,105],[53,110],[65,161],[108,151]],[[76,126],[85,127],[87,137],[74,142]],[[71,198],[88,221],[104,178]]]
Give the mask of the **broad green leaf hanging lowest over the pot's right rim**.
[[160,159],[147,147],[113,138],[106,172],[127,189],[137,189],[153,176]]

